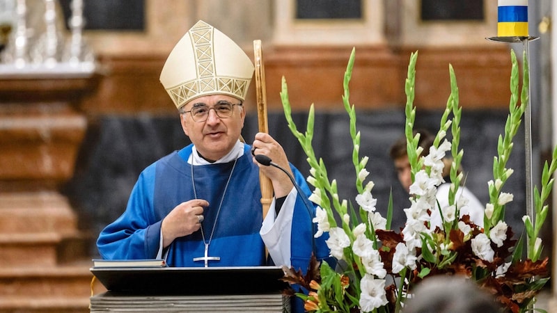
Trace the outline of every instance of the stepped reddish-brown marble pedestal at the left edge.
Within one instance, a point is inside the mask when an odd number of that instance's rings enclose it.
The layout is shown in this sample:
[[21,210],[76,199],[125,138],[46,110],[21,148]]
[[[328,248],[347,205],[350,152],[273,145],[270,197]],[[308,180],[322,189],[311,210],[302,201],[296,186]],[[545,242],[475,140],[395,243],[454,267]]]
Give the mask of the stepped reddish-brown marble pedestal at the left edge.
[[2,312],[86,312],[91,264],[75,244],[77,214],[60,188],[87,129],[79,105],[96,86],[93,71],[0,65]]

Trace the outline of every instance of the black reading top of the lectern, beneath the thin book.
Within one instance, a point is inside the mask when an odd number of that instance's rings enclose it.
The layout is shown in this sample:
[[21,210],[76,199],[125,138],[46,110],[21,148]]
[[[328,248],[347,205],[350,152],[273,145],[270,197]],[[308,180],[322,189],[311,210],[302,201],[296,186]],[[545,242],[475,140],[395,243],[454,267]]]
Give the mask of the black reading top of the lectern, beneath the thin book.
[[278,266],[93,266],[91,272],[107,290],[133,294],[265,294],[289,287]]

